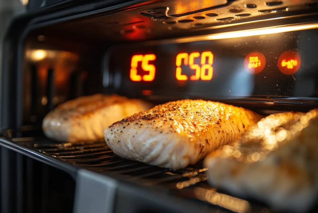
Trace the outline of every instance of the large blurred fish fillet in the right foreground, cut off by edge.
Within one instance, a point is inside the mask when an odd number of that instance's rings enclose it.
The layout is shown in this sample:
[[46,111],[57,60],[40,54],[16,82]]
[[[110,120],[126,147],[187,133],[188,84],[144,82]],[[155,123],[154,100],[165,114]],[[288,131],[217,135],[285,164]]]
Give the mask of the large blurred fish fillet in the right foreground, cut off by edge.
[[204,159],[208,181],[277,210],[306,212],[318,192],[318,110],[272,114]]

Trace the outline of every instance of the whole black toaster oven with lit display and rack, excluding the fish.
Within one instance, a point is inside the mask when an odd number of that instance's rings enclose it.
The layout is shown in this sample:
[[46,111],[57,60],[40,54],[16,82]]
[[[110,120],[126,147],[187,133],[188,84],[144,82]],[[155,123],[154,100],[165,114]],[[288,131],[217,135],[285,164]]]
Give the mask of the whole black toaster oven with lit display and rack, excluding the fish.
[[41,123],[96,93],[314,109],[317,15],[315,0],[29,0],[3,43],[1,212],[272,212],[213,189],[202,162],[124,160],[105,141],[50,140]]

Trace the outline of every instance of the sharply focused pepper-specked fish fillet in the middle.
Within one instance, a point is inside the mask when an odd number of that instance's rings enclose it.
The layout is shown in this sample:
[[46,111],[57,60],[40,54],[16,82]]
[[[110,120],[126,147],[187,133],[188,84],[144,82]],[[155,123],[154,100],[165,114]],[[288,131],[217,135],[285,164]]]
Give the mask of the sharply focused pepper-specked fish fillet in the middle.
[[119,156],[180,169],[233,141],[260,118],[250,110],[224,103],[179,100],[116,122],[104,136]]

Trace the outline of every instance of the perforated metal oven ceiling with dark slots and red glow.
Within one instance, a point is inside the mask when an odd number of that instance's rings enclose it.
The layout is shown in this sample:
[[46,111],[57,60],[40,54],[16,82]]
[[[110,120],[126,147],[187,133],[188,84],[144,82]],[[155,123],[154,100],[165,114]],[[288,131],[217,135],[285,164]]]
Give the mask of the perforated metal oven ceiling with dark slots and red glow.
[[113,41],[134,41],[317,11],[317,0],[151,1],[47,29],[51,33],[63,30]]

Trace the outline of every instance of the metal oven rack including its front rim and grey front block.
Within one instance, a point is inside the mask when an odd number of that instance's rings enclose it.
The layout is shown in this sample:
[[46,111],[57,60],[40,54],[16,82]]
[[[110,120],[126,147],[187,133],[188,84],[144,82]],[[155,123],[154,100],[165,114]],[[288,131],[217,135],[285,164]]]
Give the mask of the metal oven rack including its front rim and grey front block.
[[120,158],[103,141],[59,143],[41,134],[7,134],[0,146],[70,174],[74,213],[271,212],[257,202],[217,192],[207,184],[202,162],[173,171]]

